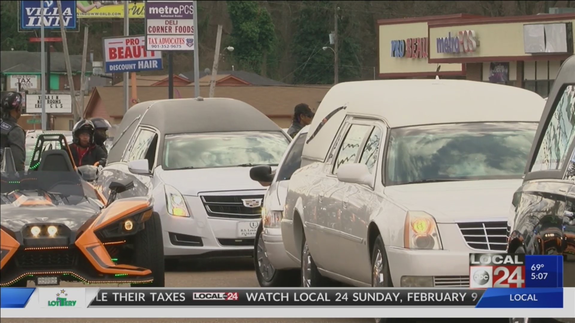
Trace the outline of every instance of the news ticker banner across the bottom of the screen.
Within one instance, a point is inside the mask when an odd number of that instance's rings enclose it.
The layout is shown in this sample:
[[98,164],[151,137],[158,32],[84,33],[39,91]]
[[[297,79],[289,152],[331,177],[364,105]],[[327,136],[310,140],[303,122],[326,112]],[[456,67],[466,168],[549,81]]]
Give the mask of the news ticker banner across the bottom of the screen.
[[[234,313],[246,308],[251,310],[231,317],[339,317],[340,314],[333,313],[342,313],[342,308],[348,311],[358,309],[342,317],[413,317],[417,314],[413,312],[420,312],[406,311],[405,307],[425,307],[421,317],[526,317],[529,314],[532,317],[570,317],[572,306],[564,309],[563,305],[573,302],[575,288],[3,287],[0,289],[0,317],[228,317],[224,311],[213,310],[223,307],[233,308]],[[162,307],[169,307],[170,311],[158,311]],[[367,312],[373,314],[362,314],[359,311],[370,308],[376,311]],[[440,311],[430,314],[427,313],[428,309]],[[294,311],[295,315],[290,314]]]

